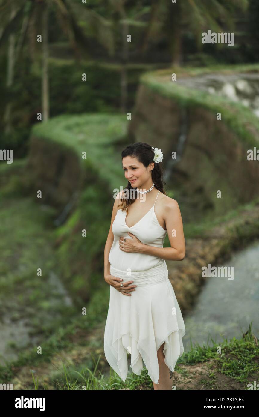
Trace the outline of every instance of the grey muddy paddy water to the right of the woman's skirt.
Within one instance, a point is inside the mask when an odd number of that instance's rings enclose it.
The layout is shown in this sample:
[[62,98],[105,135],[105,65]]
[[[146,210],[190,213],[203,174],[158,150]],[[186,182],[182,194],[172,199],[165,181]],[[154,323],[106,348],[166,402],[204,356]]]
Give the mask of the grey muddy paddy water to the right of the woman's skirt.
[[236,252],[222,265],[234,266],[234,279],[207,278],[193,310],[184,317],[185,350],[192,344],[208,344],[237,339],[248,330],[259,336],[259,241]]

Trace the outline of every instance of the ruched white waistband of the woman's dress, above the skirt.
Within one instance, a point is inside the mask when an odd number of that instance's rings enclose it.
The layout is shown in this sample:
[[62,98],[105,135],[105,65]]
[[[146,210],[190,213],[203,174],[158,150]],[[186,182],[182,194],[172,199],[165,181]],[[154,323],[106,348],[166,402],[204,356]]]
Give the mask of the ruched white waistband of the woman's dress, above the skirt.
[[116,278],[122,278],[124,282],[134,281],[134,284],[138,286],[159,284],[168,278],[168,268],[165,262],[153,268],[146,269],[145,271],[137,272],[131,272],[130,268],[129,271],[121,271],[120,269],[111,266],[110,273],[111,275],[116,276]]

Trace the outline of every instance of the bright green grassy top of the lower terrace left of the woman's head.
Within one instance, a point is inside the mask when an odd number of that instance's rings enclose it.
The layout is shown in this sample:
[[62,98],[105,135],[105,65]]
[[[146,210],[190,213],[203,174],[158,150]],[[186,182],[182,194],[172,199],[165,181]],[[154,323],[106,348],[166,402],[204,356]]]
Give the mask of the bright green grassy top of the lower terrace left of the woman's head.
[[[127,128],[125,115],[62,115],[34,125],[32,135],[74,150],[81,163],[97,170],[96,175],[110,185],[111,190],[124,178],[115,146],[126,137]],[[86,152],[85,160],[82,152]]]

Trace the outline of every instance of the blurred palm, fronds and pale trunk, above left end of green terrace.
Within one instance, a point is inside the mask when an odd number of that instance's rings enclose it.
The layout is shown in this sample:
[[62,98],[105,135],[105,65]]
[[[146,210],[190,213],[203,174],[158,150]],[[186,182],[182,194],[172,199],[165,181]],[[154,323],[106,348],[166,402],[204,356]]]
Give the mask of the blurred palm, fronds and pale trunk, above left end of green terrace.
[[[20,38],[16,48],[13,49],[12,57],[8,55],[7,68],[10,73],[15,66],[15,61],[20,58],[22,48],[25,44],[27,35],[30,56],[35,59],[37,35],[42,35],[42,118],[49,118],[49,88],[48,88],[48,15],[52,8],[56,19],[59,21],[62,31],[69,38],[69,43],[73,48],[76,59],[80,60],[80,49],[91,48],[91,43],[86,38],[84,30],[79,25],[74,10],[78,10],[78,16],[84,16],[84,22],[92,30],[97,40],[104,47],[113,53],[113,37],[109,28],[109,23],[98,15],[94,10],[78,5],[75,0],[2,0],[0,3],[0,45],[10,39],[10,35],[20,31]],[[15,12],[14,12],[15,10]],[[38,29],[40,28],[40,29]],[[11,64],[12,63],[12,64]],[[12,84],[12,82],[11,82]],[[8,86],[11,85],[10,83]],[[8,106],[8,105],[7,105]],[[7,114],[7,112],[6,112]],[[10,111],[8,112],[10,120]],[[7,114],[7,115],[8,115]],[[6,119],[5,119],[6,120]],[[8,122],[10,123],[10,122]]]

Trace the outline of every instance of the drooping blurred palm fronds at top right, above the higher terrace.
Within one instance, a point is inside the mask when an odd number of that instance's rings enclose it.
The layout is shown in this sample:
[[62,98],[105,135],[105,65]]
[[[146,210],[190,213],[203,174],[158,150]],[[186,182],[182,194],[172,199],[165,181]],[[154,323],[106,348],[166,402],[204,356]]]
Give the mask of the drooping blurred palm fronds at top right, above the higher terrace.
[[232,13],[237,9],[246,10],[248,0],[185,0],[172,3],[170,0],[151,0],[146,35],[141,52],[144,52],[148,40],[164,30],[168,38],[173,65],[180,65],[182,58],[182,38],[186,28],[190,30],[201,46],[201,33],[211,29],[221,32],[219,22],[234,27]]

